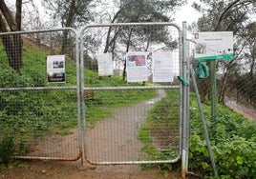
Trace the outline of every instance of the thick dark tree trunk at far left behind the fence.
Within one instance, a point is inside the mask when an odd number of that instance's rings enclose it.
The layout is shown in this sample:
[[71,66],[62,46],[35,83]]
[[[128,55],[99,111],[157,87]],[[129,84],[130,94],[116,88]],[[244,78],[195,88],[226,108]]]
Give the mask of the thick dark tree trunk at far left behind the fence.
[[[16,0],[16,13],[13,14],[4,0],[0,0],[0,31],[21,30],[22,0]],[[22,68],[22,38],[20,34],[2,35],[1,40],[12,69]]]

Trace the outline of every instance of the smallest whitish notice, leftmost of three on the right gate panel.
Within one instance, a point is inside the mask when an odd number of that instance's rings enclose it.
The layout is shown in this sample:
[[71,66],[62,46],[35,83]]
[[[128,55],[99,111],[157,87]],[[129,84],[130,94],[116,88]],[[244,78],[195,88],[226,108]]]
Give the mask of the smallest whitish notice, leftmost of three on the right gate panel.
[[111,53],[101,53],[96,56],[98,76],[113,75],[113,64]]

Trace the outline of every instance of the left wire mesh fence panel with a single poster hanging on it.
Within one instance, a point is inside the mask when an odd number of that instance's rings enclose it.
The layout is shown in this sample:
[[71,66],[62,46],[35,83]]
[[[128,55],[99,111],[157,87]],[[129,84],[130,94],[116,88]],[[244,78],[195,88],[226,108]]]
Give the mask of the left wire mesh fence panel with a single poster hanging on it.
[[[13,137],[16,158],[79,158],[76,31],[0,33],[0,39],[1,138]],[[50,55],[65,55],[65,63],[52,56],[47,64]]]

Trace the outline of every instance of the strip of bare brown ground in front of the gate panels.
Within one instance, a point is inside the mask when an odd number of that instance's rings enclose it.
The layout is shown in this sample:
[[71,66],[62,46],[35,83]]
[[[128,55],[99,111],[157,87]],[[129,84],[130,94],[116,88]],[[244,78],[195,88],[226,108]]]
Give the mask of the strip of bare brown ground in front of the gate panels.
[[138,165],[91,166],[80,169],[80,161],[23,161],[23,167],[0,171],[0,178],[8,179],[178,179],[181,171],[160,173],[159,169],[142,170]]

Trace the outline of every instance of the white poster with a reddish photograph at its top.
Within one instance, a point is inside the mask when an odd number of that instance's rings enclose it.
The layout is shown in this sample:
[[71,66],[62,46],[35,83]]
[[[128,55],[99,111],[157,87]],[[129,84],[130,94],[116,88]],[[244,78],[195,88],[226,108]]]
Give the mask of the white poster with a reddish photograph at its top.
[[128,82],[147,81],[147,53],[127,52],[126,70]]

